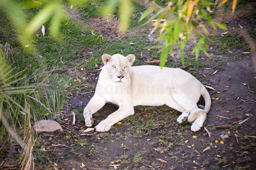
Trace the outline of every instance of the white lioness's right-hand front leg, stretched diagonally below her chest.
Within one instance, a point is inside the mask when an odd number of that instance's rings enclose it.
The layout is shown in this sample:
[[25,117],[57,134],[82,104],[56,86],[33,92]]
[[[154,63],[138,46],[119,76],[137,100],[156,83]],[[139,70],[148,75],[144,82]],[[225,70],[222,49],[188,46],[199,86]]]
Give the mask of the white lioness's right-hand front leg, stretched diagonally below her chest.
[[133,107],[119,107],[119,109],[110,114],[105,120],[101,121],[95,128],[96,131],[108,131],[111,126],[123,120],[125,117],[134,114]]

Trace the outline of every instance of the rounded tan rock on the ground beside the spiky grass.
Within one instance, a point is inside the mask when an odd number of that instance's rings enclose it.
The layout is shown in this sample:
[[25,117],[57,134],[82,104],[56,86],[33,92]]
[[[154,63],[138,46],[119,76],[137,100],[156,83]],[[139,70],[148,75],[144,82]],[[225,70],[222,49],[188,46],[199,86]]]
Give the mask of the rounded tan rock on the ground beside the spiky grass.
[[41,131],[51,132],[56,130],[63,131],[60,124],[52,120],[40,120],[36,122],[35,125],[33,125],[33,129],[36,132],[41,132]]

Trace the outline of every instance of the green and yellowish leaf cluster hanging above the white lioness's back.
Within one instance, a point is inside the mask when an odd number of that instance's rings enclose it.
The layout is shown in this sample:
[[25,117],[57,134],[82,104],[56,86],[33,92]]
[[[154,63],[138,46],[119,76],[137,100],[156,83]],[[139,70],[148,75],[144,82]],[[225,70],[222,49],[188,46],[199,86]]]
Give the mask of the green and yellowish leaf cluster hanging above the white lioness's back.
[[[227,29],[225,24],[219,24],[213,21],[208,12],[210,6],[213,3],[209,1],[171,1],[166,3],[167,6],[163,8],[158,8],[157,6],[149,7],[144,14],[141,16],[140,20],[146,18],[149,14],[150,21],[154,20],[154,29],[160,29],[160,36],[158,41],[165,41],[163,46],[159,46],[162,49],[161,63],[160,66],[165,65],[165,60],[169,56],[168,52],[173,56],[173,48],[179,47],[179,52],[181,53],[181,60],[184,66],[184,46],[187,44],[188,39],[194,39],[196,45],[192,50],[195,53],[196,60],[199,57],[199,52],[203,51],[207,57],[209,57],[206,50],[206,36],[209,35],[209,31],[204,23],[205,20],[211,24],[214,30],[217,27],[221,29]],[[208,10],[208,12],[206,11]],[[199,28],[203,30],[203,33]],[[196,40],[198,39],[198,40]]]

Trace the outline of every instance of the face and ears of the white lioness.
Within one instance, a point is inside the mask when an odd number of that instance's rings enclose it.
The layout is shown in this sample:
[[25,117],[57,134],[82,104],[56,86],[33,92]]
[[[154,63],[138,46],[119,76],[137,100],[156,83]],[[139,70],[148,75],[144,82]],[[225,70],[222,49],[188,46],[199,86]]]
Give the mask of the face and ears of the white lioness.
[[113,56],[103,54],[102,60],[110,78],[114,82],[124,83],[128,78],[132,63],[135,61],[135,56],[133,54],[126,57],[121,54],[114,54]]

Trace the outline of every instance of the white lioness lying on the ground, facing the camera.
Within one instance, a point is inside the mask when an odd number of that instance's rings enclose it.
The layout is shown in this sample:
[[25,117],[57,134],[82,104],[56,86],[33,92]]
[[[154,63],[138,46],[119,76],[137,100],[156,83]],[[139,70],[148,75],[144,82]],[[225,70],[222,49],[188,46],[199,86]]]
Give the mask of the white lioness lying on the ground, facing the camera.
[[[179,123],[194,122],[192,131],[203,126],[206,114],[211,107],[211,97],[202,83],[190,73],[181,69],[160,66],[133,66],[135,56],[103,54],[104,66],[99,74],[95,94],[85,107],[83,116],[87,127],[93,126],[93,114],[107,102],[114,103],[119,109],[101,121],[96,131],[108,131],[123,118],[134,114],[136,105],[160,106],[182,112],[177,118]],[[205,108],[199,109],[199,97],[203,96]]]

